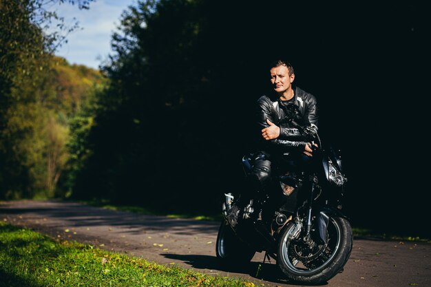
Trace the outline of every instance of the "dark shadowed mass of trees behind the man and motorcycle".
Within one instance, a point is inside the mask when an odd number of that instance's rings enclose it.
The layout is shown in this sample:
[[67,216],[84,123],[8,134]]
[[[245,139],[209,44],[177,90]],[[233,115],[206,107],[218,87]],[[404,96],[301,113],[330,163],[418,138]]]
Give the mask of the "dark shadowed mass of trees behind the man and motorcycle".
[[344,152],[353,224],[421,232],[417,143],[404,134],[423,120],[411,110],[424,92],[422,13],[364,1],[138,2],[113,35],[112,84],[74,195],[218,212],[240,188],[254,103],[281,57],[317,96],[324,140]]

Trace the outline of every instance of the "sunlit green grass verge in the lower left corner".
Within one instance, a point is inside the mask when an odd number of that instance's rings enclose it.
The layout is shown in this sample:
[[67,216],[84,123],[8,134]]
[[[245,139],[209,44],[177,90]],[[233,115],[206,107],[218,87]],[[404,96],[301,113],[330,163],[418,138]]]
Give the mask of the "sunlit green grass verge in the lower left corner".
[[0,222],[0,286],[255,286],[55,240]]

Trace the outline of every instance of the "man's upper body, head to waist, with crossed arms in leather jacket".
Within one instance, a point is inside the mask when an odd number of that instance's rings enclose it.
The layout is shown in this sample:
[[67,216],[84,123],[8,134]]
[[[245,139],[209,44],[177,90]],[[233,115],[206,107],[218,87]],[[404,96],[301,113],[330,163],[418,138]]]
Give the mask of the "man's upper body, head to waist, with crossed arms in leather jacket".
[[261,96],[257,100],[257,120],[262,127],[260,143],[263,150],[272,153],[303,151],[312,156],[311,143],[306,142],[300,129],[311,127],[317,131],[317,100],[299,87],[293,87],[295,72],[290,63],[276,61],[271,70],[271,85],[276,98]]

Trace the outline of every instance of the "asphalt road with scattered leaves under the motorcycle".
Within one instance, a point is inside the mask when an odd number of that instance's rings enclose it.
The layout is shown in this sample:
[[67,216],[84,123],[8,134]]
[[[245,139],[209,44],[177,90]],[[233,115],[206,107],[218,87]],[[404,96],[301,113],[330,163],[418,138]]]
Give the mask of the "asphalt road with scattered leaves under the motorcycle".
[[[235,270],[220,266],[215,257],[218,222],[139,215],[56,201],[0,202],[0,220],[159,264],[242,277],[257,286],[297,286],[283,279],[275,262],[262,264],[262,253],[256,253],[250,264]],[[330,279],[327,286],[430,287],[431,244],[355,237],[344,272]]]

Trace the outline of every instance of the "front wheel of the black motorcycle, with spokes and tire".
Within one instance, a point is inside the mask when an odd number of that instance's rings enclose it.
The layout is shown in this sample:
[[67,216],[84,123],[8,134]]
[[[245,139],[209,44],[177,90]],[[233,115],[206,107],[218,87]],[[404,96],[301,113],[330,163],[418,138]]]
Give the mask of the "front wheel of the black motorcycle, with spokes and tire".
[[325,244],[309,244],[297,235],[295,223],[284,229],[277,248],[277,265],[284,275],[302,284],[322,284],[337,275],[346,264],[353,247],[350,223],[330,217]]

